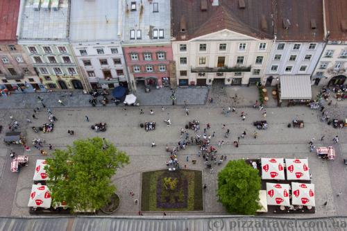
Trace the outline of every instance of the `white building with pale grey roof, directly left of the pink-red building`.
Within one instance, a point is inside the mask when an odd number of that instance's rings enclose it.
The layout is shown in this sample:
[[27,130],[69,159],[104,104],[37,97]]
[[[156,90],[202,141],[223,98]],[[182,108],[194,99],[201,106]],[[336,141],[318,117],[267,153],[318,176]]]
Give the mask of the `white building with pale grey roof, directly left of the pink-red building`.
[[121,49],[122,1],[71,1],[70,42],[93,89],[127,85]]

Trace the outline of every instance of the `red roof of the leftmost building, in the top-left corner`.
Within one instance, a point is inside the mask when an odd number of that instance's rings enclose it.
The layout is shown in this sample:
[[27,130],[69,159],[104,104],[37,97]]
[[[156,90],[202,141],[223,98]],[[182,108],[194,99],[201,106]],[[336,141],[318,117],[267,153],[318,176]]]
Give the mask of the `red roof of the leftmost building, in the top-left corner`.
[[15,42],[20,0],[0,0],[0,41]]

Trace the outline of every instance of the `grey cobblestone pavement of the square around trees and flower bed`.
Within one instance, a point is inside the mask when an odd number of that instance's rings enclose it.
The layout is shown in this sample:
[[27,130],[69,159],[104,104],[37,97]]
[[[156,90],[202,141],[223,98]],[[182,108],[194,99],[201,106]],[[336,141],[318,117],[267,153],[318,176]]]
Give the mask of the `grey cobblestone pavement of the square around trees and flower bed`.
[[[149,110],[153,109],[155,114],[149,114]],[[10,122],[10,115],[19,121],[23,130],[27,132],[28,140],[36,137],[46,139],[46,144],[53,144],[56,148],[65,148],[67,144],[71,144],[74,139],[87,138],[99,135],[114,142],[121,150],[126,151],[130,156],[130,164],[124,169],[117,172],[113,182],[117,184],[119,196],[121,197],[121,205],[117,214],[136,215],[139,205],[133,203],[134,198],[129,196],[129,191],[134,191],[135,197],[140,198],[141,173],[143,171],[152,171],[155,169],[164,169],[165,162],[169,155],[165,152],[166,144],[174,145],[179,140],[180,128],[183,128],[188,121],[198,119],[201,124],[210,123],[212,128],[209,132],[216,132],[216,137],[212,138],[212,144],[217,146],[220,140],[224,140],[225,144],[218,148],[219,155],[227,155],[228,160],[239,158],[257,158],[257,157],[308,157],[310,171],[312,172],[312,182],[316,185],[316,214],[305,214],[310,216],[332,216],[347,215],[347,181],[341,180],[346,178],[346,166],[342,159],[347,156],[347,135],[346,128],[344,130],[334,129],[326,123],[321,123],[317,118],[314,110],[305,107],[291,108],[266,108],[266,120],[269,122],[267,130],[260,130],[257,139],[251,137],[251,133],[255,130],[253,121],[263,119],[261,112],[253,108],[237,108],[237,113],[232,113],[226,117],[221,114],[221,108],[216,106],[189,106],[189,117],[185,116],[183,106],[168,106],[166,110],[161,108],[144,107],[144,115],[139,114],[139,108],[128,108],[127,114],[124,114],[121,108],[56,108],[52,109],[53,114],[58,118],[54,131],[49,134],[34,133],[30,126],[40,126],[48,121],[48,114],[45,111],[37,113],[37,120],[33,123],[26,124],[25,118],[32,114],[32,110],[1,110],[0,124],[4,126],[3,132],[0,133],[0,140],[6,132],[6,126]],[[246,121],[242,121],[239,117],[239,110],[244,110],[247,114]],[[342,108],[341,110],[346,110]],[[85,115],[90,122],[85,121]],[[165,126],[163,120],[171,118],[172,126]],[[292,119],[303,119],[305,128],[287,128],[287,123]],[[104,133],[95,133],[90,129],[92,123],[96,122],[108,123],[108,130]],[[154,131],[145,132],[143,128],[139,128],[139,123],[144,121],[156,121],[157,128]],[[223,124],[230,128],[231,135],[228,139],[223,138]],[[73,129],[75,135],[71,137],[67,134],[68,129]],[[246,130],[245,139],[240,142],[239,148],[235,148],[232,142]],[[190,135],[193,132],[189,131]],[[323,144],[319,144],[321,136],[325,135]],[[335,161],[323,161],[316,157],[314,153],[309,152],[307,142],[316,138],[316,146],[327,146],[332,144],[332,137],[339,135],[340,143],[335,144],[337,149],[337,159]],[[151,142],[154,141],[157,146],[151,148]],[[35,161],[40,159],[40,153],[31,148],[29,155],[29,165],[24,167],[20,173],[10,173],[10,151],[9,146],[0,144],[0,216],[26,216],[28,215],[28,195],[33,184],[33,173]],[[17,153],[21,153],[21,148],[16,148]],[[196,146],[188,146],[185,151],[178,153],[178,160],[182,164],[187,164],[187,169],[198,169],[203,171],[203,183],[208,185],[208,189],[204,192],[204,212],[194,214],[224,214],[225,210],[220,203],[217,202],[217,173],[210,173],[201,159],[196,155],[198,149]],[[196,164],[186,162],[196,159]],[[220,171],[225,162],[221,166],[214,166],[215,171]],[[339,190],[342,190],[342,196],[336,196]],[[328,205],[323,203],[328,201]],[[156,213],[149,213],[156,214]],[[157,213],[158,214],[158,213]],[[168,215],[177,214],[170,212]],[[182,213],[192,214],[189,212]],[[273,215],[273,214],[272,214]],[[293,215],[295,216],[295,215]],[[300,216],[303,216],[300,214]]]

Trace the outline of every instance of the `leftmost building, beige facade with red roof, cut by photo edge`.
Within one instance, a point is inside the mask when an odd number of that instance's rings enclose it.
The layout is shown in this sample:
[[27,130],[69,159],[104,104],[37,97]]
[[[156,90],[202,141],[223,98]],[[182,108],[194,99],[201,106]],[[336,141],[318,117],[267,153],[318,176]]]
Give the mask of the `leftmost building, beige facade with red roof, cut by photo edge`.
[[[20,0],[0,1],[0,91],[34,92],[44,90],[40,78],[22,46],[17,44]],[[5,90],[5,92],[6,92]]]

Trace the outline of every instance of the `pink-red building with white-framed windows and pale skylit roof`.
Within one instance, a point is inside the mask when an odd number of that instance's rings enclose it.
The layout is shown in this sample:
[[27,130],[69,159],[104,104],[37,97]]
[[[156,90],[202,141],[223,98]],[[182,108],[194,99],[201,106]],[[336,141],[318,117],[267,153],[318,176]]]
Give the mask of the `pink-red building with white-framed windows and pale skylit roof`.
[[124,57],[132,89],[170,85],[170,1],[124,0]]

